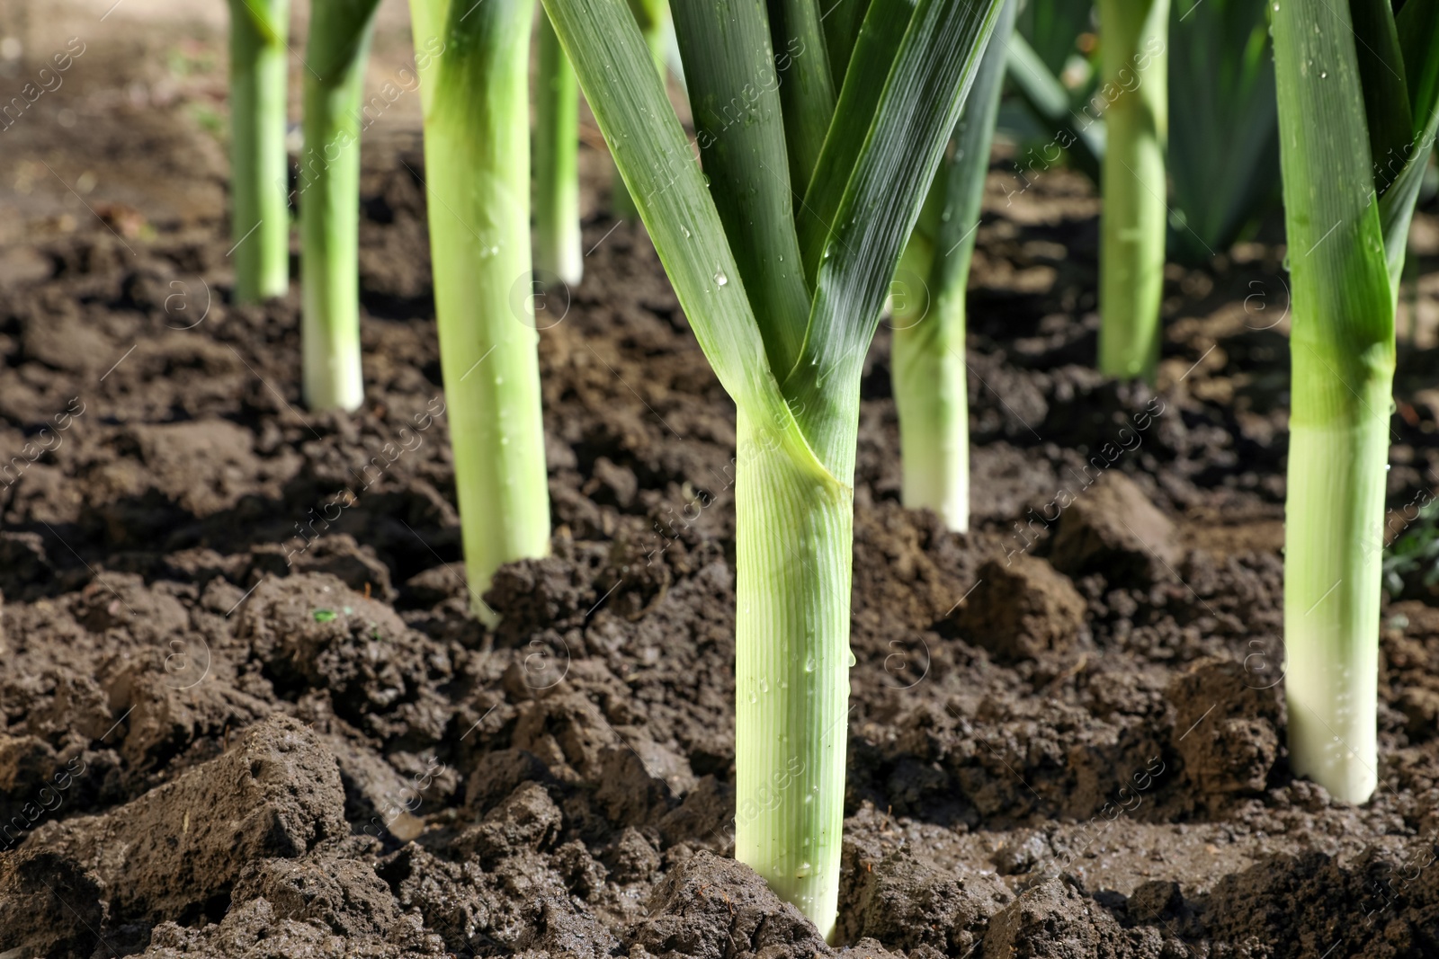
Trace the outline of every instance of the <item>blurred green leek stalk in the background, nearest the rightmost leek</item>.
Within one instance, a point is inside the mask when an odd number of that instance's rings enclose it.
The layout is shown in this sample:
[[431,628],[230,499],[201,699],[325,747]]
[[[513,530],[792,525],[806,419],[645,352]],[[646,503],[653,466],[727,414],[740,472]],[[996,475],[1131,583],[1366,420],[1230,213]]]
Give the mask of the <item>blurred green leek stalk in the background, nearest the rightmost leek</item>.
[[[1164,293],[1168,0],[1099,0],[1099,372],[1154,378]],[[1112,99],[1111,99],[1112,98]]]

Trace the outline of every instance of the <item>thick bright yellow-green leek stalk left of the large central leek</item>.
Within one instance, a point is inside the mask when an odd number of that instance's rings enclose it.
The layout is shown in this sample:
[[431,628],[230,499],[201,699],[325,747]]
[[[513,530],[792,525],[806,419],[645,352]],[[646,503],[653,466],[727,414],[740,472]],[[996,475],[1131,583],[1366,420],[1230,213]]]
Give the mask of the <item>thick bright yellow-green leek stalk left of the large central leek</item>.
[[[495,569],[550,552],[530,296],[532,0],[410,0],[440,372],[475,614]],[[515,293],[518,290],[518,295]]]

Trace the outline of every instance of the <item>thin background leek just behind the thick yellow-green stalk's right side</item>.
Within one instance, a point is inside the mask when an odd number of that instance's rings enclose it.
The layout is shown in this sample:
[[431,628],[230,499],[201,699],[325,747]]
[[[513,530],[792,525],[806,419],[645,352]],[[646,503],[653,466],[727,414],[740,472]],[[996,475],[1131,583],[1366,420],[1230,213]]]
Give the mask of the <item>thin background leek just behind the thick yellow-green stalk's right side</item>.
[[580,88],[540,12],[535,63],[535,273],[571,286],[584,276],[580,240]]

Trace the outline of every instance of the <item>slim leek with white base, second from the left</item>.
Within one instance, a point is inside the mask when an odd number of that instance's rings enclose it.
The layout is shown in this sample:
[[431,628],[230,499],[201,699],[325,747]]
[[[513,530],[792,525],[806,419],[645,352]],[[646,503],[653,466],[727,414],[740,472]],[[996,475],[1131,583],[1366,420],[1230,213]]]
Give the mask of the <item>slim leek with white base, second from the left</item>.
[[380,0],[312,0],[305,45],[299,237],[305,403],[358,410],[360,101]]

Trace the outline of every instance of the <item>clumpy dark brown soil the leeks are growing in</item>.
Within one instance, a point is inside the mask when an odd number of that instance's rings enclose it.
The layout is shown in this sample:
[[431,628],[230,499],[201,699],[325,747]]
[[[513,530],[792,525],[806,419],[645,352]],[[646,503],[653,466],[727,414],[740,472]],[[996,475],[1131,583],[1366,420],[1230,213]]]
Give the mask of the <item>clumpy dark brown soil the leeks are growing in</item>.
[[[134,69],[104,56],[55,109]],[[111,150],[176,210],[56,188],[71,220],[0,249],[0,956],[826,953],[727,858],[734,410],[643,231],[591,216],[548,303],[554,555],[501,572],[485,633],[417,137],[367,139],[368,405],[309,414],[298,296],[227,303],[196,98],[4,134],[7,177]],[[842,947],[1439,955],[1439,610],[1386,610],[1376,798],[1288,766],[1282,249],[1171,267],[1160,390],[1120,385],[1088,367],[1092,191],[1009,204],[1006,168],[973,533],[898,503],[885,329],[863,382]],[[1402,355],[1396,508],[1435,482],[1436,361]]]

